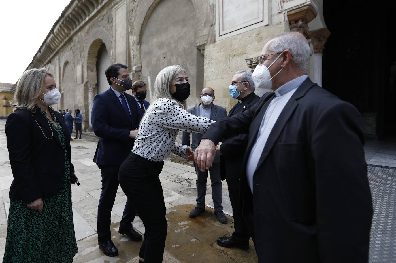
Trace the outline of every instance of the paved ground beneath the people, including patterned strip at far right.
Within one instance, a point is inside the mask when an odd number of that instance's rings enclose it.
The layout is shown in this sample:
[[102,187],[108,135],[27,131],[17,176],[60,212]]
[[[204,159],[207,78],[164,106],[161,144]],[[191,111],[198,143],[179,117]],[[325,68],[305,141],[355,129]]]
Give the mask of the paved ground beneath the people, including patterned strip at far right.
[[[9,208],[8,191],[12,182],[12,173],[6,135],[5,120],[0,120],[0,262],[4,255],[7,233],[7,215]],[[92,133],[83,134],[82,140],[71,142],[72,163],[81,185],[72,185],[72,203],[74,228],[78,254],[75,263],[137,263],[141,242],[134,242],[118,233],[118,227],[126,202],[121,188],[118,189],[112,210],[112,239],[120,254],[107,257],[97,247],[97,204],[101,192],[101,174],[92,162],[97,138]],[[380,145],[381,148],[376,147]],[[367,142],[366,161],[369,163],[368,177],[373,194],[374,216],[371,229],[370,263],[396,262],[396,144]],[[375,160],[374,160],[375,159]],[[381,162],[381,163],[379,163]],[[388,167],[378,167],[385,165]],[[238,248],[227,249],[218,246],[217,237],[229,236],[233,232],[233,218],[227,216],[228,223],[223,225],[213,214],[210,179],[206,195],[206,212],[198,218],[189,218],[188,213],[195,206],[196,174],[191,163],[171,155],[166,159],[160,174],[167,208],[168,235],[164,259],[168,263],[180,262],[257,262],[253,242],[247,251]],[[224,211],[231,214],[227,202],[227,183],[223,182]],[[144,226],[139,217],[133,226],[144,233]]]

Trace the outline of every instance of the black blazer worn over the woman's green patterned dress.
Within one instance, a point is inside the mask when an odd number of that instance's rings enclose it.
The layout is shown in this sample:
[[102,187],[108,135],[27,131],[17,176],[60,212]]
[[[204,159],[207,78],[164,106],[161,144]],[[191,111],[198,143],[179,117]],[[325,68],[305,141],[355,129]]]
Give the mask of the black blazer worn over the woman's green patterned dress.
[[[70,171],[74,173],[70,161],[69,130],[62,115],[56,111],[53,113],[63,128]],[[50,129],[53,138],[48,140],[43,132],[51,138]],[[27,110],[17,110],[8,116],[6,136],[14,177],[10,198],[28,203],[59,193],[65,174],[65,152],[55,130],[49,127],[47,118],[38,110],[33,114]]]

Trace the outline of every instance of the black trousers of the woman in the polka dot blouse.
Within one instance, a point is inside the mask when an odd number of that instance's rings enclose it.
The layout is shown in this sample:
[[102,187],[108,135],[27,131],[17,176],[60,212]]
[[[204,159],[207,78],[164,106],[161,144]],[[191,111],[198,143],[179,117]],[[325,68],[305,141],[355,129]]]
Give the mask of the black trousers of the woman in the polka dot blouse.
[[145,226],[145,237],[139,256],[145,263],[162,263],[166,232],[164,193],[158,175],[164,161],[149,161],[131,153],[122,163],[118,180],[122,191],[131,200]]

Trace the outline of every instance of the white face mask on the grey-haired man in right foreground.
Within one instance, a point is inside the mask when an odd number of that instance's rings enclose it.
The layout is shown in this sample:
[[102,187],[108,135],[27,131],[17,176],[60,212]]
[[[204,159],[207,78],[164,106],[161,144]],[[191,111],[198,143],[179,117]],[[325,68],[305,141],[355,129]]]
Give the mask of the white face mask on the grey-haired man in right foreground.
[[257,65],[254,69],[251,77],[253,78],[254,85],[256,86],[254,93],[256,93],[257,96],[261,97],[264,93],[269,92],[272,88],[271,80],[283,70],[283,68],[281,68],[278,73],[271,78],[269,68],[279,59],[280,55],[268,66],[268,68],[264,65]]

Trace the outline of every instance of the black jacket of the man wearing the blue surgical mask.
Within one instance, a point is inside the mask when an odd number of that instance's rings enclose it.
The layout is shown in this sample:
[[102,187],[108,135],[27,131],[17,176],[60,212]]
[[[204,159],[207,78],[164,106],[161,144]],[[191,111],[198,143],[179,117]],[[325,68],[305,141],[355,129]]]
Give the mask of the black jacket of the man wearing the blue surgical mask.
[[[259,101],[260,97],[254,92],[246,96],[242,103],[237,103],[228,113],[228,117],[244,112]],[[240,104],[240,105],[239,105]],[[238,106],[239,105],[239,106]],[[238,108],[237,108],[238,106]],[[221,144],[221,179],[227,178],[227,185],[232,189],[239,189],[240,177],[242,174],[242,165],[244,161],[244,152],[247,146],[247,135],[232,135],[229,138],[223,138]]]

